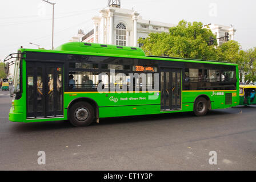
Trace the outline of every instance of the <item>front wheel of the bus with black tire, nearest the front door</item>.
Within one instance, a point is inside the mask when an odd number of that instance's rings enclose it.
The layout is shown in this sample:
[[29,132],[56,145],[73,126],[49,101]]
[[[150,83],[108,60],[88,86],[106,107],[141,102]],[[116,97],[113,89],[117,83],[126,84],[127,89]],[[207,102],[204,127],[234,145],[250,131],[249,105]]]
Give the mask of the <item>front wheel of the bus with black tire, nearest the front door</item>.
[[89,126],[94,119],[94,108],[88,102],[77,102],[69,110],[69,121],[75,127]]

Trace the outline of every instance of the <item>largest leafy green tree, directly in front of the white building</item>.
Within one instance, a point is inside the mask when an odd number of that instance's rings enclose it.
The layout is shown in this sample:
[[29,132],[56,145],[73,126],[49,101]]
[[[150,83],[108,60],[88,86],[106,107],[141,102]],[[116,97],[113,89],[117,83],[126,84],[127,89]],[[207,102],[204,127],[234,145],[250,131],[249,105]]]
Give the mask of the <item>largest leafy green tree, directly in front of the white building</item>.
[[182,20],[178,26],[170,28],[169,33],[151,33],[145,40],[139,39],[138,43],[143,44],[146,55],[215,60],[217,41],[208,46],[210,36],[215,38],[201,22]]

